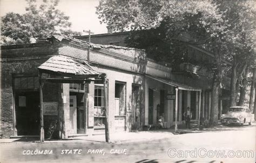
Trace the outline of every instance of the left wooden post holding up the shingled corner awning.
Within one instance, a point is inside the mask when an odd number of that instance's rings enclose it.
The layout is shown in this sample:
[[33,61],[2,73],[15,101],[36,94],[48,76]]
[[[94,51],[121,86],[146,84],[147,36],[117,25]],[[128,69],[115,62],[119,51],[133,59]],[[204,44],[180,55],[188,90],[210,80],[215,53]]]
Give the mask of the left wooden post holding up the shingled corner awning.
[[43,110],[43,89],[42,89],[42,80],[41,80],[42,73],[39,72],[39,91],[40,91],[40,141],[44,142],[44,110]]

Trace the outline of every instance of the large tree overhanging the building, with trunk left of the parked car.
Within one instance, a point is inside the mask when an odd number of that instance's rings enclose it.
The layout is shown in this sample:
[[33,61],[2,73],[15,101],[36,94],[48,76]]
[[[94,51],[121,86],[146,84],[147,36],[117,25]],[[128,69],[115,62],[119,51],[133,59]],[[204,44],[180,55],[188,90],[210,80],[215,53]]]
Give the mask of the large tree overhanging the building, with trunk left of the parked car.
[[[205,44],[214,53],[214,61],[211,65],[213,72],[212,83],[212,108],[211,123],[218,120],[218,92],[220,82],[226,66],[222,59],[226,55],[227,24],[224,19],[224,11],[220,11],[213,1],[100,1],[97,13],[107,28],[112,31],[125,30],[150,30],[154,35],[150,40],[155,41],[146,47],[147,53],[160,54],[158,59],[163,59],[166,51],[170,51],[169,62],[181,58],[174,56],[177,44]],[[192,38],[184,42],[179,38],[183,33],[190,33]],[[145,36],[145,35],[144,35]],[[135,38],[138,39],[138,38]],[[140,39],[143,39],[142,37]],[[146,45],[150,40],[144,38]]]

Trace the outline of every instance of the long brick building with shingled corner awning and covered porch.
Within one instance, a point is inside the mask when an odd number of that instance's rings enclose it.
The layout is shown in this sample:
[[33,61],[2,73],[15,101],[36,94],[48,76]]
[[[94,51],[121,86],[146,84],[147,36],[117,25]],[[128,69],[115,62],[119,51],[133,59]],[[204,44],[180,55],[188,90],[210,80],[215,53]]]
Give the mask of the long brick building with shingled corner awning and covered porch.
[[[156,125],[160,115],[166,127],[171,127],[176,108],[181,124],[188,106],[192,120],[209,117],[211,78],[205,70],[181,65],[182,72],[191,72],[186,76],[147,58],[143,50],[99,44],[91,45],[88,65],[88,49],[87,42],[59,35],[35,44],[2,46],[3,137],[38,135],[41,106],[45,138],[104,133],[105,94],[100,74],[107,79],[110,133]],[[79,76],[86,80],[80,81]],[[51,81],[41,83],[42,105],[39,81]],[[220,94],[223,99],[225,85]],[[220,100],[220,114],[222,106]]]

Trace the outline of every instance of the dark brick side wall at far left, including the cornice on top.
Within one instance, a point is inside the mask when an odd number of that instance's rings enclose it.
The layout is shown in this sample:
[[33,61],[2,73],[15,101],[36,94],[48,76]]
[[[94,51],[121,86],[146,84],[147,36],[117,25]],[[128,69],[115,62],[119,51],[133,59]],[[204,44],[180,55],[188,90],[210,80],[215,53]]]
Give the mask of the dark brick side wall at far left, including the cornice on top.
[[37,67],[54,55],[56,47],[46,44],[11,45],[1,48],[1,130],[4,138],[14,135],[12,76],[38,74]]

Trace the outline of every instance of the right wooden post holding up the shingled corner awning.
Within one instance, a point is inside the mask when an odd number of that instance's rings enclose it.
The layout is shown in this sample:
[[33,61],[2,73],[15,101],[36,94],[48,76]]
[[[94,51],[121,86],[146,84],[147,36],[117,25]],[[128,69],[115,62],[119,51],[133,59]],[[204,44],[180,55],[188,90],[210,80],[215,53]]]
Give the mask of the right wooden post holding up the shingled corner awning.
[[104,77],[104,104],[105,104],[105,139],[106,142],[109,142],[109,109],[107,106],[107,91],[106,91],[106,77]]

